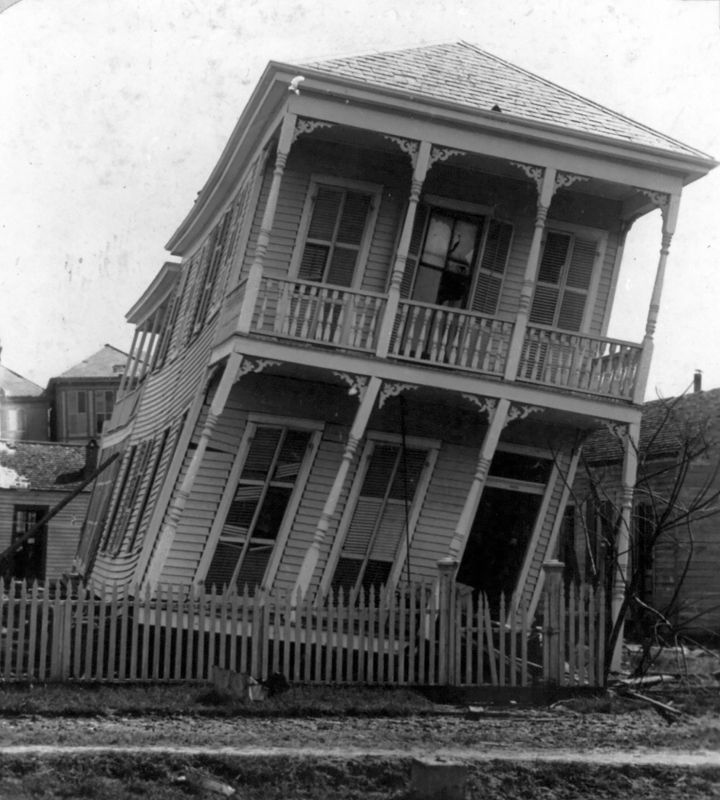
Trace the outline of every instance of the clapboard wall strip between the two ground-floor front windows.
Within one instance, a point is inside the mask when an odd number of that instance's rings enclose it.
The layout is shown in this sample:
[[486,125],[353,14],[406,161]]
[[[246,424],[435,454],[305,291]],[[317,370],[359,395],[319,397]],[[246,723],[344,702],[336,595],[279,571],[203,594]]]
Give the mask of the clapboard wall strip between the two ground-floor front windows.
[[[346,430],[332,425],[326,427],[275,577],[275,586],[279,588],[291,588],[295,583],[300,565],[312,542],[323,506],[340,467],[346,440]],[[359,457],[356,454],[348,471],[335,514],[330,521],[330,527],[320,549],[320,558],[313,575],[312,588],[317,587],[320,576],[325,569],[330,547],[335,540],[340,519],[345,511],[348,493],[355,478],[358,461]]]

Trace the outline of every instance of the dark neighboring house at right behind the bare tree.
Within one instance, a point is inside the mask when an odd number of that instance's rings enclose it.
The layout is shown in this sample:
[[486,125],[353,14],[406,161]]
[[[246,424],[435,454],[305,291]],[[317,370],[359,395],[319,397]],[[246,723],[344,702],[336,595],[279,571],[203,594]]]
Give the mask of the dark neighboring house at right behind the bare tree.
[[[646,403],[639,442],[640,463],[633,503],[629,567],[640,570],[638,597],[673,626],[695,634],[720,634],[720,389]],[[558,557],[566,578],[607,579],[622,500],[622,444],[602,429],[583,446],[565,510]],[[687,469],[684,468],[687,463]],[[661,523],[674,497],[683,524]],[[692,509],[695,509],[692,511]],[[687,524],[685,514],[689,512]],[[638,609],[632,609],[637,615]],[[658,617],[649,615],[662,630]]]

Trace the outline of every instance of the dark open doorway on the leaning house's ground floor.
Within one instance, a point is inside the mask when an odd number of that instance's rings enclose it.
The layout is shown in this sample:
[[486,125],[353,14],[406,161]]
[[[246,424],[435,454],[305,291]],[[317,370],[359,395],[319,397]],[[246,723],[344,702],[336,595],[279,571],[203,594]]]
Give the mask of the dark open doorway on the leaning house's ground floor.
[[515,591],[541,494],[486,486],[460,562],[458,583],[484,592],[491,605]]

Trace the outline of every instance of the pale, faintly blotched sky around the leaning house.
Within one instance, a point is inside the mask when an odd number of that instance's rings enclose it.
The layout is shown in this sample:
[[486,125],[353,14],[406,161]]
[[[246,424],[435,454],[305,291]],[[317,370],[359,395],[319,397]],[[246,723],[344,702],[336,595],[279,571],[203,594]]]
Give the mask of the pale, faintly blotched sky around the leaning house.
[[[168,253],[270,60],[462,39],[720,160],[720,0],[0,0],[2,363],[44,386]],[[609,335],[640,342],[660,215]],[[648,399],[720,386],[720,167],[683,192]]]

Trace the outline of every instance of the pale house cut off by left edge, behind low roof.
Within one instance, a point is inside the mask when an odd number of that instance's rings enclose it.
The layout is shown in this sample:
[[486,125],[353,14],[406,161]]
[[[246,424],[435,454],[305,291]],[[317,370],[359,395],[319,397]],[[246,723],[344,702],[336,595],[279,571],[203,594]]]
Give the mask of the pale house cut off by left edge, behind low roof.
[[48,400],[43,388],[0,364],[0,439],[20,442],[47,438]]

